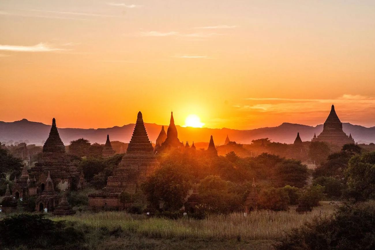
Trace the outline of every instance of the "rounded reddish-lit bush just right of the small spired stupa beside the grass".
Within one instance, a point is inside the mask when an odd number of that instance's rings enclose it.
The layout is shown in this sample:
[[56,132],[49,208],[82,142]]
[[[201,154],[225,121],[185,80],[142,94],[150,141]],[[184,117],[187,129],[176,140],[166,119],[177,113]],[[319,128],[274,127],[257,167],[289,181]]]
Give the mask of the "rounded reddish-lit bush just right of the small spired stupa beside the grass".
[[288,192],[283,188],[271,187],[263,189],[259,194],[259,205],[273,211],[287,211],[289,209]]

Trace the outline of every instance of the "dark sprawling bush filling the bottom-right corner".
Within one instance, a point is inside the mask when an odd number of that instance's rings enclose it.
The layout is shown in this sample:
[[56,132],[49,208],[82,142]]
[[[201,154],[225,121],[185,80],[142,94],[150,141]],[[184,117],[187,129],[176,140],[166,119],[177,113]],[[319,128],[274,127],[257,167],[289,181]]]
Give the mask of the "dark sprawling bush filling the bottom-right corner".
[[332,217],[305,223],[276,249],[375,249],[375,202],[344,205]]

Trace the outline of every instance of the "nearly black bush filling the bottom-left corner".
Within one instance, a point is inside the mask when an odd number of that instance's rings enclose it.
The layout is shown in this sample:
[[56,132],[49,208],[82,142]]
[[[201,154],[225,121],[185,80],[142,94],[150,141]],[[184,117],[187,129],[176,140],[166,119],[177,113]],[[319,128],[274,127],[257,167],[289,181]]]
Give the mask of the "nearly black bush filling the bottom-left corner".
[[85,241],[83,232],[66,222],[53,222],[42,214],[20,214],[0,221],[0,247],[67,249]]

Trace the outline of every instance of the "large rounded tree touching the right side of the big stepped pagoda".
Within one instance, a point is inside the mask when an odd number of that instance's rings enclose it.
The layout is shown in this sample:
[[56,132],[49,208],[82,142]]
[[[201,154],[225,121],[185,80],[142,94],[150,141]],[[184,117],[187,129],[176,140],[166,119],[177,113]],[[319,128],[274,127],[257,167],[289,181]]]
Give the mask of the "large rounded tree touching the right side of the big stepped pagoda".
[[158,209],[160,202],[163,209],[175,211],[183,206],[190,188],[189,176],[182,169],[164,166],[142,184],[142,190],[151,206]]

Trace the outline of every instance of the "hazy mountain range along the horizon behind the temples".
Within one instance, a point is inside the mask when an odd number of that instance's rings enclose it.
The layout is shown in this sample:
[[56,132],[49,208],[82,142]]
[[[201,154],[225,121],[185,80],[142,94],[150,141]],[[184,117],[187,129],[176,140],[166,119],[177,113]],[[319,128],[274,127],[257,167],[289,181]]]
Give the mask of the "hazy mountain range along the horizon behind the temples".
[[[58,122],[58,121],[57,121]],[[58,123],[57,123],[58,124]],[[111,141],[129,142],[133,133],[135,124],[127,124],[122,127],[111,127],[107,129],[58,129],[60,137],[64,144],[68,145],[70,141],[79,138],[85,138],[91,143],[98,142],[104,144],[107,134],[110,135]],[[162,125],[154,123],[145,123],[148,137],[152,142],[156,141]],[[167,130],[168,126],[164,126]],[[231,141],[237,143],[250,144],[253,139],[269,138],[273,142],[293,143],[296,139],[297,132],[300,133],[302,141],[311,141],[314,133],[319,135],[323,131],[323,125],[316,127],[301,124],[283,123],[277,127],[264,127],[251,130],[236,129],[209,129],[209,128],[192,128],[176,126],[178,138],[180,141],[208,142],[210,135],[213,135],[216,145],[224,144],[226,135]],[[20,142],[27,144],[43,145],[47,139],[51,125],[28,121],[26,119],[13,122],[0,121],[0,142]],[[343,123],[343,130],[347,135],[352,134],[354,140],[358,143],[375,143],[375,127],[363,127],[350,123]]]

